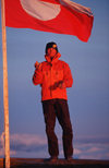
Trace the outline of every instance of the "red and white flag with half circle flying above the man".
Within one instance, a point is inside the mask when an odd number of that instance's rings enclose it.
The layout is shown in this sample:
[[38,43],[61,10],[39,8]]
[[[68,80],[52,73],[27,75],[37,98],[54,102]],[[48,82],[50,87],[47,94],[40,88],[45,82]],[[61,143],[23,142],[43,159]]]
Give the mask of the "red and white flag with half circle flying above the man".
[[74,35],[87,41],[94,16],[90,9],[70,0],[4,0],[5,25]]

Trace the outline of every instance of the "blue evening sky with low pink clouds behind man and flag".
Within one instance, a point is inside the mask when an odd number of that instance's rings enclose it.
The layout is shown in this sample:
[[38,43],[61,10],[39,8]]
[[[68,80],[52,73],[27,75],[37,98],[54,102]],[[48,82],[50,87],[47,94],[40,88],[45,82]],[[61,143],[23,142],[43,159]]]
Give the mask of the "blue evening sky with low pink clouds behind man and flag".
[[[1,1],[0,1],[1,2]],[[34,63],[45,60],[45,47],[56,41],[69,63],[74,84],[68,103],[74,134],[74,158],[109,159],[109,0],[75,0],[89,7],[94,26],[88,43],[75,36],[7,27],[10,144],[13,157],[49,157],[40,87],[32,83]],[[1,3],[0,3],[1,7]],[[0,157],[3,157],[3,88],[0,11]],[[60,157],[63,157],[57,121]]]

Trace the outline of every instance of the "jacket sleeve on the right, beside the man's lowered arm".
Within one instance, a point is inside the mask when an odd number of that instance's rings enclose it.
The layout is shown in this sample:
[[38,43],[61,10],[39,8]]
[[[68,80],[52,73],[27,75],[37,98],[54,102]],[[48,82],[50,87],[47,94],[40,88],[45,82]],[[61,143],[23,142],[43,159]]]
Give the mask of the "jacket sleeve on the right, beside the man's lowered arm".
[[71,73],[71,70],[68,63],[64,64],[63,82],[65,84],[65,87],[72,87],[73,85],[73,77],[72,77],[72,73]]

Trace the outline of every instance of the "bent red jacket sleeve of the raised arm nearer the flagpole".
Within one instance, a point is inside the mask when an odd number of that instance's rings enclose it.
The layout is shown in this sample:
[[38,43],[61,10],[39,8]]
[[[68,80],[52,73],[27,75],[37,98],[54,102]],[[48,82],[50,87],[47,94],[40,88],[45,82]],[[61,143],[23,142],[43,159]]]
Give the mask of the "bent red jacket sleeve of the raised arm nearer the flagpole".
[[41,69],[36,69],[33,75],[34,85],[43,84],[43,71]]

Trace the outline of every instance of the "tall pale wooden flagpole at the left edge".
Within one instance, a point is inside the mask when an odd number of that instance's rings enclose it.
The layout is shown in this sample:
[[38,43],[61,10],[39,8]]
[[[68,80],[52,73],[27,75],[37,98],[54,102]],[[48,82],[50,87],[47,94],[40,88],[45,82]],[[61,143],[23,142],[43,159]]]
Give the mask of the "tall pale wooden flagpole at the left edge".
[[4,136],[5,136],[5,168],[10,168],[10,134],[9,134],[9,94],[8,94],[8,61],[7,61],[7,31],[4,0],[1,0],[2,22],[2,60],[3,60],[3,110],[4,110]]

